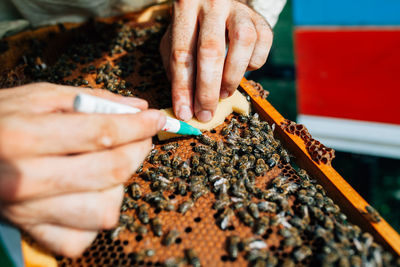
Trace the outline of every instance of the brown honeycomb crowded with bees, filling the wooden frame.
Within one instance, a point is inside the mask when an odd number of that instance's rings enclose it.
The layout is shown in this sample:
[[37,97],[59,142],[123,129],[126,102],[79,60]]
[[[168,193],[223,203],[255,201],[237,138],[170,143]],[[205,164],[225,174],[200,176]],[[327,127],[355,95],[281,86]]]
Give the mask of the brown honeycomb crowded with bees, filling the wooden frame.
[[[169,107],[158,53],[167,24],[156,18],[60,25],[45,39],[29,40],[31,49],[0,87],[49,81]],[[306,130],[299,133],[311,140]],[[200,138],[153,141],[125,184],[119,225],[100,231],[81,257],[57,256],[60,266],[399,266],[291,163],[258,114],[232,114]],[[310,148],[320,147],[312,142]]]

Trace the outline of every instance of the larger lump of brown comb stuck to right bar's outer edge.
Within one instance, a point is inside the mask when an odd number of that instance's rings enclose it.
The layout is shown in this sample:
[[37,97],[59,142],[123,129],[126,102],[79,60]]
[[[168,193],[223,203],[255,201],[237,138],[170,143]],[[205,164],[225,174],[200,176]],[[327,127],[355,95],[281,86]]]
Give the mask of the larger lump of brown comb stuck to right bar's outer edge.
[[286,130],[288,133],[297,135],[303,139],[306,149],[314,161],[323,164],[332,163],[332,160],[335,158],[335,150],[324,146],[318,140],[312,138],[311,134],[303,124],[297,124],[293,121],[285,120],[281,124],[281,128]]

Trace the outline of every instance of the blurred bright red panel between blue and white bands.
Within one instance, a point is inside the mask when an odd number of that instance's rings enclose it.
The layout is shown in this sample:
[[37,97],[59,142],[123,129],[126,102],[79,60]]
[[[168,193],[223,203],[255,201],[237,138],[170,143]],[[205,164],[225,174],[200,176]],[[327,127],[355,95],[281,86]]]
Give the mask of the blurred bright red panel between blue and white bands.
[[400,124],[400,29],[297,28],[299,113]]

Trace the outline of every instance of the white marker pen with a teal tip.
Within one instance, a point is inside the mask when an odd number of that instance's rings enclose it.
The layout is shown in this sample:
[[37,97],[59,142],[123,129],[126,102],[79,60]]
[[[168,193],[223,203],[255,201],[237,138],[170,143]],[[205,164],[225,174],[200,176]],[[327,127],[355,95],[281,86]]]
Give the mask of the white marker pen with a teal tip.
[[[74,99],[74,110],[83,113],[103,114],[134,114],[141,111],[135,107],[82,93],[78,94]],[[201,135],[199,129],[170,117],[167,117],[167,122],[161,130],[182,135]]]

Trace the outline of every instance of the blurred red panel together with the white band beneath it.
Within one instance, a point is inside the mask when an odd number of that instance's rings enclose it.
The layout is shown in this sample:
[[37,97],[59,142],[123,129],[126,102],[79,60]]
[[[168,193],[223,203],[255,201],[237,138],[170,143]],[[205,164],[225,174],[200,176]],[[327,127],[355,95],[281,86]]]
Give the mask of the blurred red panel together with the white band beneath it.
[[297,27],[298,122],[336,150],[400,159],[400,27]]

